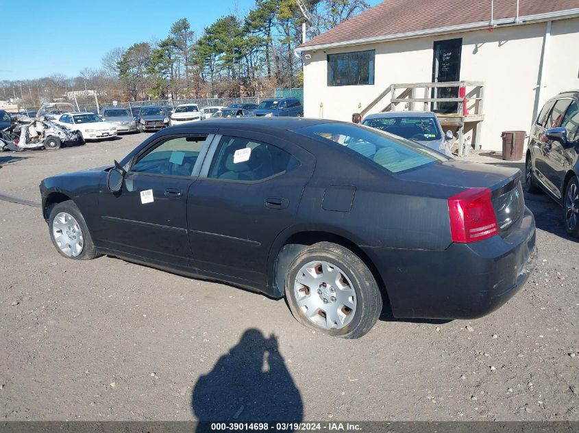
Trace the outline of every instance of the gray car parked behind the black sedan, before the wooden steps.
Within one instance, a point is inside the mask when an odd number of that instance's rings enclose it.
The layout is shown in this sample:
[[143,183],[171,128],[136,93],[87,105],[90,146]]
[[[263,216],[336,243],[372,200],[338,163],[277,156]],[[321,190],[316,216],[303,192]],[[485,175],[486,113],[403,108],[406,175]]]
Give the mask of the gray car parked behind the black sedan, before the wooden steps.
[[362,120],[362,124],[408,138],[452,157],[450,140],[454,135],[452,131],[443,133],[439,119],[431,111],[389,111],[369,114]]

